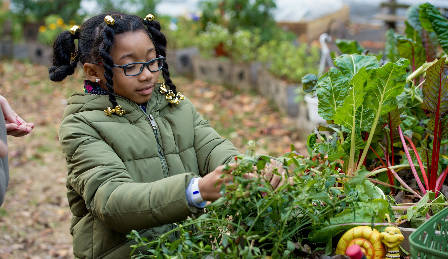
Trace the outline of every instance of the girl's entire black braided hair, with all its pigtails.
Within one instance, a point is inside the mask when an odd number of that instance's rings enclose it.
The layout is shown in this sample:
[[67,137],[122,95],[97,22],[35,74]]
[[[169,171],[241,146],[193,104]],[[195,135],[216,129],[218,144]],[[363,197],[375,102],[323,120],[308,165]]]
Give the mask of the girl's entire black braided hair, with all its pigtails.
[[[115,20],[113,25],[107,25],[104,17],[110,15]],[[59,34],[53,43],[53,66],[48,69],[50,80],[59,82],[72,75],[78,62],[81,64],[101,62],[104,67],[104,78],[108,90],[109,101],[112,107],[117,106],[113,90],[113,59],[111,52],[116,35],[126,32],[144,30],[151,38],[155,53],[166,57],[167,39],[160,31],[158,21],[143,20],[141,17],[120,12],[109,12],[90,18],[76,34],[64,31]],[[78,38],[78,51],[76,51],[75,39]],[[76,58],[73,59],[73,53]],[[162,68],[165,84],[173,93],[177,93],[176,85],[172,83],[168,64],[165,62]],[[97,84],[89,82],[90,84]]]

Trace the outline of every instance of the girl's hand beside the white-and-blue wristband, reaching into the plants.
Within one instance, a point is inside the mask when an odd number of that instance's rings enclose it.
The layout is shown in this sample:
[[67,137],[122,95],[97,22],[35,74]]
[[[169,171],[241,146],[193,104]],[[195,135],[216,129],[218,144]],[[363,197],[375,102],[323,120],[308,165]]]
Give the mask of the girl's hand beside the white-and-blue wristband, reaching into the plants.
[[[218,166],[215,170],[199,179],[198,187],[199,191],[201,192],[202,199],[215,201],[222,197],[220,193],[221,186],[223,184],[228,185],[229,181],[233,181],[232,171],[236,168],[237,164],[232,163],[228,164],[228,166],[230,166],[228,170],[224,170],[224,168],[226,167],[225,165]],[[221,177],[222,174],[224,174],[224,177]],[[243,174],[243,177],[254,178],[256,176],[255,174],[247,173]]]

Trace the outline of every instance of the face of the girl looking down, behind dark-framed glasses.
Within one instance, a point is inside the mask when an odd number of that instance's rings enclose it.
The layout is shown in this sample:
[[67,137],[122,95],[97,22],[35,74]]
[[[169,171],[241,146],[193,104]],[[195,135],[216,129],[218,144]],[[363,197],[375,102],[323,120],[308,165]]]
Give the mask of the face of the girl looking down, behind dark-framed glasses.
[[[154,44],[143,30],[117,35],[111,56],[114,64],[117,65],[147,62],[156,58]],[[126,76],[123,68],[112,69],[114,93],[138,104],[146,103],[151,99],[159,80],[160,70],[151,72],[145,67],[136,76]]]

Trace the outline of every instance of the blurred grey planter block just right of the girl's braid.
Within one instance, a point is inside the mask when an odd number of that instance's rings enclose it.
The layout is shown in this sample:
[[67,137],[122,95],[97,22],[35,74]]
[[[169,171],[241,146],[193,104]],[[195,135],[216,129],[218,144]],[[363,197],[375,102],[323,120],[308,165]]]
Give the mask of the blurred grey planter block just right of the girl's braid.
[[182,49],[168,49],[167,63],[170,69],[174,68],[177,75],[193,74],[193,57],[198,55],[198,47],[186,47]]

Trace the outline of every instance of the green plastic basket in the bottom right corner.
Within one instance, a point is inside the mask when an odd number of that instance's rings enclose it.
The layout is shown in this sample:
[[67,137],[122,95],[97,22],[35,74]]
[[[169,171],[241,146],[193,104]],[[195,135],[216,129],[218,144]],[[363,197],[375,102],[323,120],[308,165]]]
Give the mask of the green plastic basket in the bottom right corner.
[[[409,235],[411,259],[448,259],[448,207]],[[436,230],[440,230],[436,234]],[[420,255],[420,257],[419,257]]]

